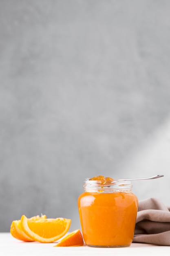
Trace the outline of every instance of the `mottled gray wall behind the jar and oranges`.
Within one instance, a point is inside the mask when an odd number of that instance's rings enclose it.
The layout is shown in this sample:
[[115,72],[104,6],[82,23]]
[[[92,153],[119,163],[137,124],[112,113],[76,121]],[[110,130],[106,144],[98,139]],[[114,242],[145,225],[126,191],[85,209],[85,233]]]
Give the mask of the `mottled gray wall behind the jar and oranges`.
[[169,202],[170,1],[0,0],[0,231],[72,219],[85,177]]

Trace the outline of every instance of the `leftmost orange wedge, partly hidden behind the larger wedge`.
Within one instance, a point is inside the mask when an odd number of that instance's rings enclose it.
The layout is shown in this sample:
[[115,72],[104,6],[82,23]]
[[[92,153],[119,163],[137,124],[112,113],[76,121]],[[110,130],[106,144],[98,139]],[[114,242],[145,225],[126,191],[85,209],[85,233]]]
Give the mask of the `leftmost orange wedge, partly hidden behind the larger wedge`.
[[[46,218],[46,215],[43,215],[43,216],[34,216],[32,218],[30,218],[30,220],[38,220],[40,218],[43,218],[45,219]],[[10,229],[10,233],[13,237],[15,237],[16,239],[18,240],[22,240],[22,241],[25,241],[25,242],[32,242],[33,239],[30,238],[29,236],[27,236],[22,227],[21,227],[21,220],[13,220],[13,222],[11,223],[11,229]]]

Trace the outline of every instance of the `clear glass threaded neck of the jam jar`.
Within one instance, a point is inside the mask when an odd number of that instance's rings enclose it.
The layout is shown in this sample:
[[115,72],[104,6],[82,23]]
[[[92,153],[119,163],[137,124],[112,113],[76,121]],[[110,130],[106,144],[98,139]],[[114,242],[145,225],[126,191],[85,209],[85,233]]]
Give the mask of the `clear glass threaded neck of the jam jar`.
[[131,192],[132,183],[129,180],[113,180],[105,184],[99,180],[85,180],[83,188],[85,192],[91,193]]

